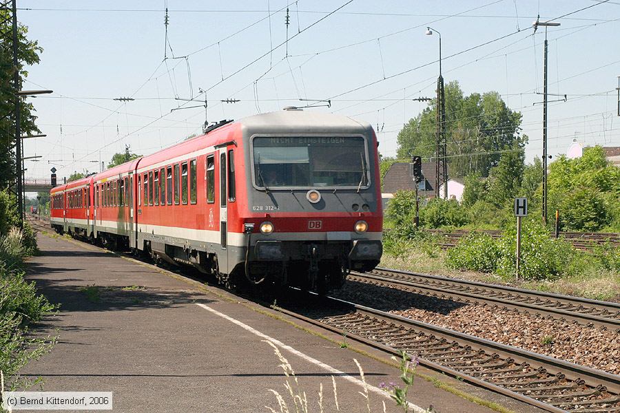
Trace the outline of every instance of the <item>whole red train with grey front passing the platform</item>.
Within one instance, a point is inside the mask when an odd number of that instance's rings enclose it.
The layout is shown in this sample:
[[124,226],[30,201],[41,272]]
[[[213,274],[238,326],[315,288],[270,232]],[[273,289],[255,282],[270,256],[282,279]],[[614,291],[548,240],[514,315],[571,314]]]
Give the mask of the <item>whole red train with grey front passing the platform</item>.
[[370,125],[285,109],[207,133],[51,191],[59,233],[246,277],[325,290],[382,255]]

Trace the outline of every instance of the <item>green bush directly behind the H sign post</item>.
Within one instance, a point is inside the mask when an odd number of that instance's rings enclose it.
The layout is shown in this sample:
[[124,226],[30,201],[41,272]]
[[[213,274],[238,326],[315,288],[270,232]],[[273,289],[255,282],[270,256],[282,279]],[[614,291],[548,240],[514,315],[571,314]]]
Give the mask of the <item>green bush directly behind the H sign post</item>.
[[[510,229],[499,241],[497,273],[513,277],[517,273],[517,231]],[[577,251],[565,240],[549,237],[545,226],[536,221],[524,222],[521,231],[521,266],[519,277],[550,279],[570,273]]]

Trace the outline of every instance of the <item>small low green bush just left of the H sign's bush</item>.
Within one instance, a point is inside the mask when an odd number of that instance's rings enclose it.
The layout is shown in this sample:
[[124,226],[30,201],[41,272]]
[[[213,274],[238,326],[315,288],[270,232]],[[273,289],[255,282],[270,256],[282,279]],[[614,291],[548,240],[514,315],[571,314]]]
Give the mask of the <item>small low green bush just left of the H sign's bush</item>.
[[490,273],[497,268],[499,246],[490,235],[471,233],[448,251],[446,264],[457,270],[473,270]]

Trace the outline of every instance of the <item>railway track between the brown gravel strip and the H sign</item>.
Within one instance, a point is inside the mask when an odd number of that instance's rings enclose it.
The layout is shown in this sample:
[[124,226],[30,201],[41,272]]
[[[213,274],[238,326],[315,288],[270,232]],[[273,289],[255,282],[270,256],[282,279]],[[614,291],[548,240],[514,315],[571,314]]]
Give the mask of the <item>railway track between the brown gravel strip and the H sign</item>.
[[617,303],[388,268],[377,268],[365,274],[351,273],[349,279],[432,297],[448,297],[464,303],[484,303],[542,317],[593,324],[620,332],[620,304]]

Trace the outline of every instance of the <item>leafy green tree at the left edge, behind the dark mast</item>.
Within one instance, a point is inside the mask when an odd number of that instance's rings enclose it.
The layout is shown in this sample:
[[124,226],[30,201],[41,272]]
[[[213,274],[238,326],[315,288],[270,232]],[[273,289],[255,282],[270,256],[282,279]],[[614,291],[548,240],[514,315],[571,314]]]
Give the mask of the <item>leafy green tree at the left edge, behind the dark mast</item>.
[[[12,82],[15,70],[19,71],[21,79],[28,76],[25,67],[39,63],[39,54],[43,51],[37,41],[26,38],[28,28],[19,24],[18,36],[18,63],[17,69],[13,65],[12,56],[12,31],[10,30],[10,13],[6,9],[0,9],[0,187],[6,188],[15,180],[15,89]],[[25,99],[20,99],[21,105],[21,134],[40,133],[34,121],[34,107]],[[5,116],[6,115],[6,116]]]

